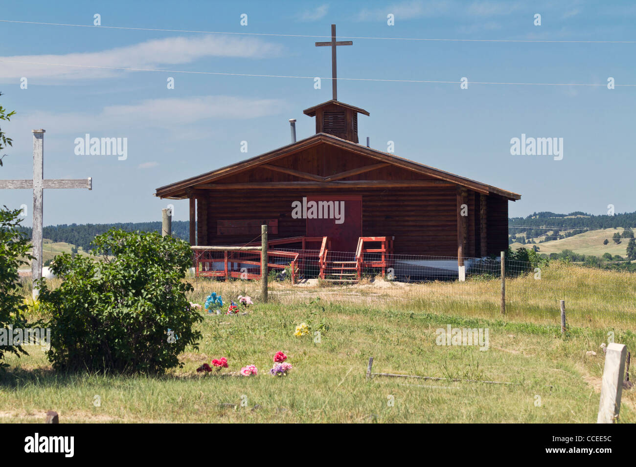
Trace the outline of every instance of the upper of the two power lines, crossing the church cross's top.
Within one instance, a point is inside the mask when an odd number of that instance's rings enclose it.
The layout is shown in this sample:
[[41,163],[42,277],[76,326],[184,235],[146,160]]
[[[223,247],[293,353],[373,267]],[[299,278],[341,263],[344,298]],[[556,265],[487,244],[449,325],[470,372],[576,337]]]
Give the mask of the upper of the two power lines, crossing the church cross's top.
[[[64,23],[44,23],[36,21],[0,20],[4,23],[17,24],[38,24],[46,26],[72,26],[72,27],[93,27],[100,29],[125,29],[125,30],[149,30],[158,32],[189,32],[193,34],[229,34],[235,36],[273,36],[273,37],[305,37],[305,38],[331,38],[331,36],[310,36],[302,34],[267,34],[264,32],[224,32],[206,31],[191,29],[167,29],[153,27],[125,27],[125,26],[95,26],[93,24],[64,24]],[[435,39],[420,37],[368,37],[368,36],[338,36],[342,39],[372,39],[387,41],[422,41],[422,42],[502,42],[502,43],[560,43],[560,44],[636,44],[636,41],[558,41],[550,39]]]

